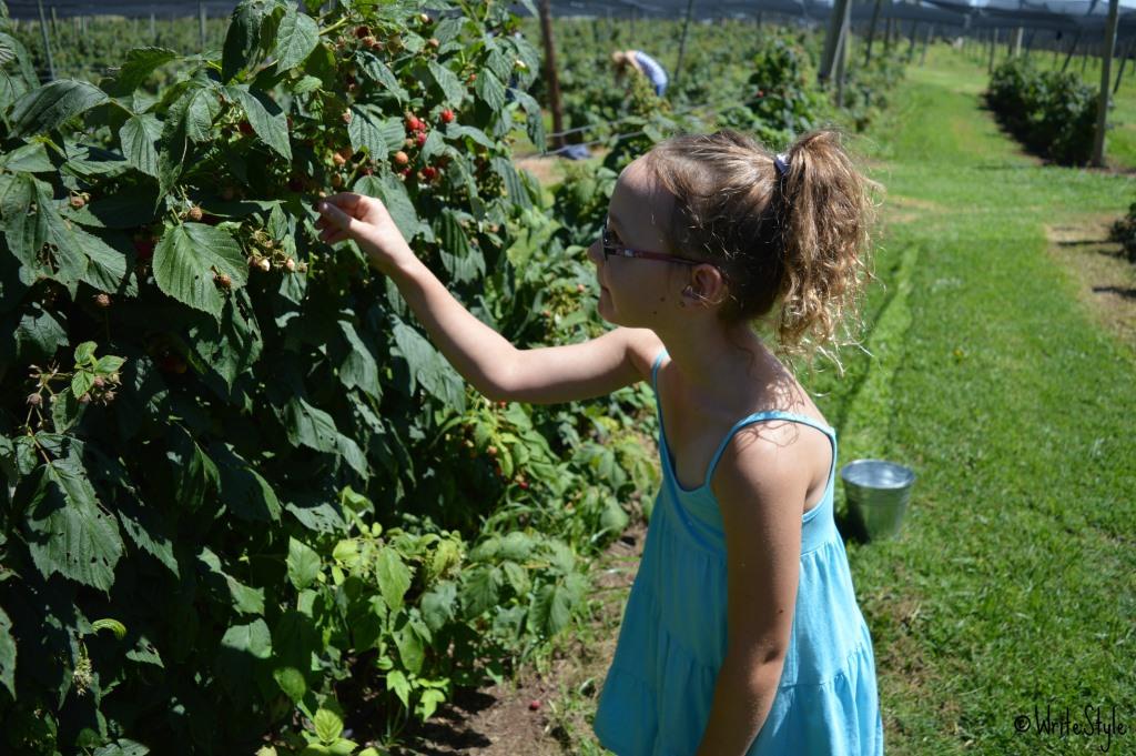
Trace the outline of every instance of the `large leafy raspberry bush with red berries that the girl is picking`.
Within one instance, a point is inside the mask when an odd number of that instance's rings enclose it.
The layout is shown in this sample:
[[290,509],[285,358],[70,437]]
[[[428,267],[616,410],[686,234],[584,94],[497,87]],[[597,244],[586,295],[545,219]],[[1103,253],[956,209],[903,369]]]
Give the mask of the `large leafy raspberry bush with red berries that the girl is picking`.
[[598,334],[512,166],[543,141],[516,19],[321,6],[247,0],[219,58],[136,49],[98,83],[41,86],[0,27],[8,749],[390,741],[566,626],[578,555],[655,484],[650,389],[491,402],[317,241],[320,192],[376,196],[518,346]]

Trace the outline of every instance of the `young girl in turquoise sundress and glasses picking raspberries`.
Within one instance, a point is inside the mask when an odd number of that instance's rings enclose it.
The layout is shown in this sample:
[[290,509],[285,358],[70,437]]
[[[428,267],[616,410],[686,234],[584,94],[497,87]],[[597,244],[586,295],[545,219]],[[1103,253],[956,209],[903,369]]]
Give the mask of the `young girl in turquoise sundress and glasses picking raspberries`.
[[833,132],[782,156],[729,131],[662,142],[620,174],[588,250],[619,327],[531,350],[458,304],[379,201],[320,203],[321,238],[354,239],[487,397],[651,380],[663,484],[594,723],[619,756],[883,753],[833,521],[836,434],[750,325],[772,315],[782,350],[816,350],[854,319],[870,186]]

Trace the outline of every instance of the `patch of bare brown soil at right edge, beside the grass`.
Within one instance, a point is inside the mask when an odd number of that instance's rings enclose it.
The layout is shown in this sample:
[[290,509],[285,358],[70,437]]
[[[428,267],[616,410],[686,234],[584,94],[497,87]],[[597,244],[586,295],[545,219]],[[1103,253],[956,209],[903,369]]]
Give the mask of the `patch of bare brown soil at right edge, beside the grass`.
[[1085,216],[1045,226],[1050,252],[1077,282],[1077,293],[1102,326],[1136,351],[1136,265],[1109,241],[1114,216]]

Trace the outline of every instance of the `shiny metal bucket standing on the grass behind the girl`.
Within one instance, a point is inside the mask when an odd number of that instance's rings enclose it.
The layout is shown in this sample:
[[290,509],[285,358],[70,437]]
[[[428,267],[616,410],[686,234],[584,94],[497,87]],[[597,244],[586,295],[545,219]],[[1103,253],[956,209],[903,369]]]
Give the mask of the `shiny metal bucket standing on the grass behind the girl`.
[[869,540],[900,531],[916,481],[913,470],[883,459],[857,459],[841,467],[841,480],[849,513],[859,518]]

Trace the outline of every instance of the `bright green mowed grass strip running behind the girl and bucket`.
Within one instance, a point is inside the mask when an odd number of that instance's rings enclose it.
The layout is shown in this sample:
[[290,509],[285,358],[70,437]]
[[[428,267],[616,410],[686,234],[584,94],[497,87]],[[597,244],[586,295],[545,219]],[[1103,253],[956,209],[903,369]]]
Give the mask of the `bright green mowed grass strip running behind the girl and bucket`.
[[[902,360],[883,366],[889,387],[833,407],[886,424],[862,451],[919,475],[902,535],[849,546],[887,750],[1136,753],[1136,359],[1079,305],[1044,234],[1062,216],[1119,216],[1133,182],[1024,156],[953,55],[911,68],[870,146],[903,214],[922,213],[891,225],[880,255],[889,269],[918,259]],[[862,410],[878,393],[888,407]],[[1035,704],[1081,726],[1086,705],[1103,725],[1114,706],[1128,731],[1016,732]]]

